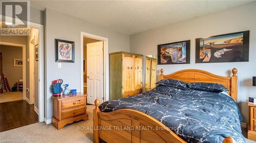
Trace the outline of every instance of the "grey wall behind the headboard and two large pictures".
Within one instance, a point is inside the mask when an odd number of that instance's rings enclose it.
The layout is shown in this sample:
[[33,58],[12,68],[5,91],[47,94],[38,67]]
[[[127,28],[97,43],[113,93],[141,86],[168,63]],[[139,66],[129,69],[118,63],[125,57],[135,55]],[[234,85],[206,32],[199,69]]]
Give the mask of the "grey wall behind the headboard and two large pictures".
[[[185,65],[158,65],[158,75],[161,68],[165,74],[182,69],[202,69],[218,75],[229,76],[230,70],[238,69],[238,102],[243,122],[248,122],[248,106],[246,99],[256,97],[256,87],[252,87],[252,76],[256,75],[256,2],[225,11],[200,16],[175,24],[170,24],[132,35],[130,50],[145,55],[157,54],[157,45],[191,40],[190,64]],[[195,39],[226,33],[250,30],[249,62],[239,63],[205,63],[195,64]]]

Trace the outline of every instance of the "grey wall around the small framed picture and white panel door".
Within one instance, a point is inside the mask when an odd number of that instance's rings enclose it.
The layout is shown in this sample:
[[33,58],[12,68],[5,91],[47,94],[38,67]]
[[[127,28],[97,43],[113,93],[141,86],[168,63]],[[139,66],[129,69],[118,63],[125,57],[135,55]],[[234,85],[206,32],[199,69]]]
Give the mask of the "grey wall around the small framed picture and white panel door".
[[[51,84],[54,79],[63,79],[70,89],[80,92],[80,32],[109,38],[109,52],[130,51],[130,37],[108,28],[62,14],[51,9],[45,11],[45,116],[53,116]],[[55,62],[55,39],[75,42],[75,63],[61,63],[58,68]]]

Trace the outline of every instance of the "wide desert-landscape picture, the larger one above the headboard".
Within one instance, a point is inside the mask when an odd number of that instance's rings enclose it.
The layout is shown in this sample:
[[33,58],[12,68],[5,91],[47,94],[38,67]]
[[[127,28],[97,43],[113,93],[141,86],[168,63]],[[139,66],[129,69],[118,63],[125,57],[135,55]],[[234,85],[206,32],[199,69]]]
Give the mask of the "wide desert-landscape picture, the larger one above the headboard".
[[249,31],[196,39],[196,63],[249,61]]

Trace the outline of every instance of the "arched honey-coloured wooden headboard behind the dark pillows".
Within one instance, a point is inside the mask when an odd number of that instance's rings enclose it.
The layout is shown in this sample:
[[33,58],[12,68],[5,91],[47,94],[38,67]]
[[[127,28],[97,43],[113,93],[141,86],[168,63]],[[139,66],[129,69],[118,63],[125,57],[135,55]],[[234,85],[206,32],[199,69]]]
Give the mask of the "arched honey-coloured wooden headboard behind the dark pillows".
[[228,90],[228,94],[234,99],[238,100],[238,70],[236,68],[232,69],[233,75],[231,77],[219,76],[216,74],[209,73],[203,70],[187,69],[181,70],[172,74],[163,74],[163,69],[161,69],[160,80],[162,79],[177,79],[182,80],[187,83],[190,82],[209,82],[209,83],[220,83],[224,85]]

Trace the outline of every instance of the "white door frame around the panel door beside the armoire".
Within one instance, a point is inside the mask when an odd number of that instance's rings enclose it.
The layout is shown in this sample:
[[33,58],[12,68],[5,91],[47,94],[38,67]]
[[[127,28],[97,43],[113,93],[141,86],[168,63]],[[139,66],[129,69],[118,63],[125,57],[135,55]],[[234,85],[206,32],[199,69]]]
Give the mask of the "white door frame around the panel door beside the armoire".
[[83,93],[83,37],[103,41],[103,98],[102,101],[110,100],[109,96],[109,39],[98,35],[81,32],[80,33],[80,92]]

